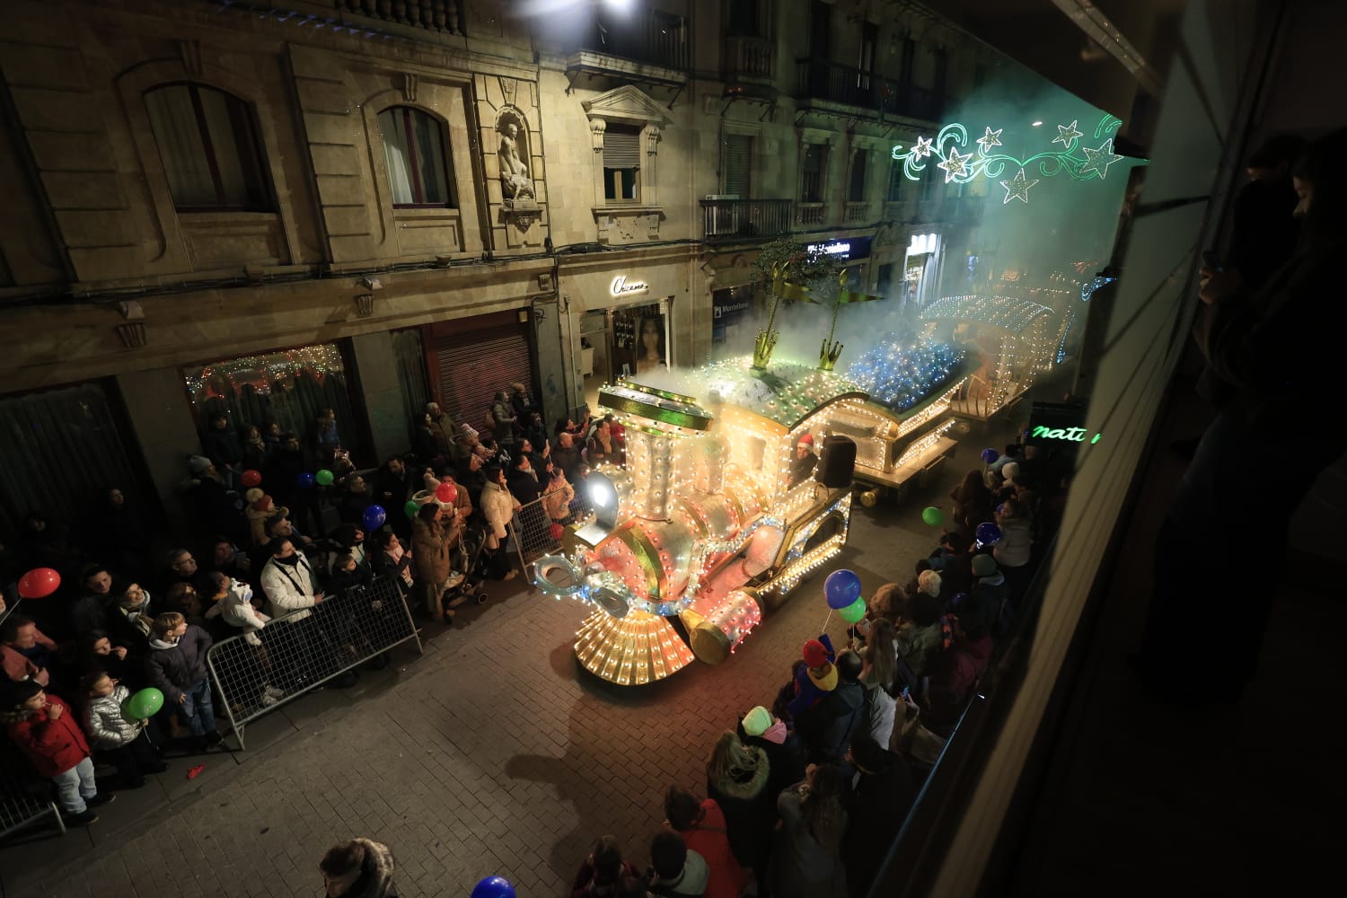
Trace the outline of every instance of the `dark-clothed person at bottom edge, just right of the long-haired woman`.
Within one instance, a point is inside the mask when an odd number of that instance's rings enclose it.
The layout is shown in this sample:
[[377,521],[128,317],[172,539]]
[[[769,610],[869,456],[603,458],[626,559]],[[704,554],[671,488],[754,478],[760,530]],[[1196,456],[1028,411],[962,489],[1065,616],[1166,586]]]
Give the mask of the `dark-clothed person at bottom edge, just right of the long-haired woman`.
[[902,821],[916,797],[912,773],[901,755],[877,743],[870,734],[859,732],[846,753],[855,769],[847,800],[847,837],[842,841],[846,885],[853,898],[870,890],[889,847],[902,828]]

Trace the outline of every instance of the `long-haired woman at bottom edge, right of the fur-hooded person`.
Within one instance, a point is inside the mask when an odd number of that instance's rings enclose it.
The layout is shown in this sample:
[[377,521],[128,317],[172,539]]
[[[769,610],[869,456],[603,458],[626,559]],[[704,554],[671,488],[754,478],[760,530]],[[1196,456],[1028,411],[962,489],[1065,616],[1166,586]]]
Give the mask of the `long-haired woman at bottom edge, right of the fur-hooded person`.
[[804,782],[776,800],[781,828],[772,844],[768,885],[772,898],[843,898],[846,867],[842,836],[846,809],[842,771],[831,763],[810,765]]

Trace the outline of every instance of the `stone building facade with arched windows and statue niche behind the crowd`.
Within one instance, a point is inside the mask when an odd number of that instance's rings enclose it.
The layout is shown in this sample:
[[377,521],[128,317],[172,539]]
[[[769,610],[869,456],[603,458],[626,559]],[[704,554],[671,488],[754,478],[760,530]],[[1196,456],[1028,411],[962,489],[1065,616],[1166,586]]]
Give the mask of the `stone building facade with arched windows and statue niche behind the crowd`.
[[[892,293],[913,234],[960,225],[888,160],[994,65],[951,27],[877,1],[563,7],[7,4],[0,404],[84,389],[125,459],[5,486],[0,528],[69,512],[65,486],[170,497],[207,409],[259,394],[339,405],[365,464],[428,399],[478,425],[520,380],[551,423],[602,380],[746,349],[726,331],[766,240],[865,245],[857,279]],[[34,439],[0,448],[42,481]]]

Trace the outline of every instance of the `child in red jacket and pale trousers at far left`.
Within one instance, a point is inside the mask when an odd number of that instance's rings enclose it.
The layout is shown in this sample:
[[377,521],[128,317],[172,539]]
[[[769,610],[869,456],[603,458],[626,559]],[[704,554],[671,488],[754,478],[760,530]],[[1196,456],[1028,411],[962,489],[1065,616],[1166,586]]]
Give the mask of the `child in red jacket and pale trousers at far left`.
[[67,824],[84,825],[98,819],[92,806],[116,796],[98,794],[93,775],[89,740],[75,723],[70,705],[47,695],[35,680],[16,683],[9,689],[11,704],[0,714],[9,740],[32,763],[38,775],[57,786],[57,804]]

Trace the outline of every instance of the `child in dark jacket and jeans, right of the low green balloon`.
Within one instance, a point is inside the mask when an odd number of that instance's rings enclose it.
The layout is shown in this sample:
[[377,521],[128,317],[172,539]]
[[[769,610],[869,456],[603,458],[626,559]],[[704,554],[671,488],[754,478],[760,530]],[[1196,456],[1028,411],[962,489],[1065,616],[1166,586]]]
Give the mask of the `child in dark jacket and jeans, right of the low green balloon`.
[[176,611],[155,618],[150,637],[145,675],[150,685],[164,693],[164,704],[194,736],[198,749],[220,745],[216,708],[206,679],[206,650],[210,634]]

